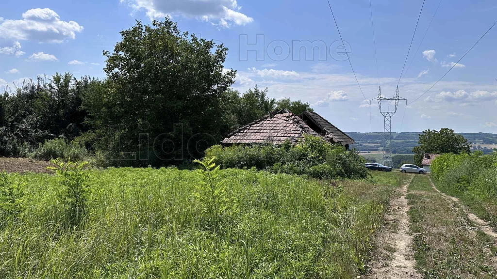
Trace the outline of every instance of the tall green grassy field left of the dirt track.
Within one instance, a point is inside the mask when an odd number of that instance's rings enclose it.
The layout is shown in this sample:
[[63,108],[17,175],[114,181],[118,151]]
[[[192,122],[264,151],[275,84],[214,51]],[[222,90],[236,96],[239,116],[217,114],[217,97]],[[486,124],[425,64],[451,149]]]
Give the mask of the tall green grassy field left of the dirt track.
[[[2,187],[24,196],[17,213],[0,212],[0,278],[355,278],[367,272],[385,205],[405,179],[205,175],[111,168],[72,184],[7,175]],[[68,185],[85,198],[68,196]],[[69,217],[75,201],[78,221]]]

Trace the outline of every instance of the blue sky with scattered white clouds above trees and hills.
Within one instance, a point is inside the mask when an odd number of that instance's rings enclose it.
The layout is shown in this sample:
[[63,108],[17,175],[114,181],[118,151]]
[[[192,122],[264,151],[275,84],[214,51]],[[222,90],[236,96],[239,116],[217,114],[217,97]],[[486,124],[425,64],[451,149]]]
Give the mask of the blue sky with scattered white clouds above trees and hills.
[[[379,83],[385,96],[395,93],[422,4],[371,2],[379,81],[369,0],[331,0],[366,99],[378,95]],[[497,20],[495,0],[442,0],[427,29],[438,4],[439,0],[424,4],[406,69],[414,60],[399,85],[401,96],[411,101]],[[149,23],[170,15],[181,30],[230,49],[225,68],[238,70],[233,87],[241,92],[258,84],[268,87],[270,97],[311,103],[344,131],[383,129],[378,107],[369,108],[349,62],[337,50],[340,38],[326,0],[8,0],[0,7],[1,88],[57,71],[104,78],[102,51],[113,49],[121,30],[136,19]],[[496,43],[497,26],[442,81],[407,107],[402,131],[448,127],[497,133]],[[395,132],[401,129],[404,110],[405,104],[400,104],[393,118]]]

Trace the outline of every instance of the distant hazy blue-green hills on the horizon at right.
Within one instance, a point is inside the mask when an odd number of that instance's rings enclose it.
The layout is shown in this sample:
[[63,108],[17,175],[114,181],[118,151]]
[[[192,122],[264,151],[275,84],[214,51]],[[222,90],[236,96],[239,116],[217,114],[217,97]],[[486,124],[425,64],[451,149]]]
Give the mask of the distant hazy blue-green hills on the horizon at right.
[[[388,134],[345,132],[355,140],[355,148],[364,153],[382,152],[387,149]],[[392,153],[411,154],[421,132],[392,133]],[[473,144],[473,149],[492,152],[497,147],[497,134],[489,133],[457,133]]]

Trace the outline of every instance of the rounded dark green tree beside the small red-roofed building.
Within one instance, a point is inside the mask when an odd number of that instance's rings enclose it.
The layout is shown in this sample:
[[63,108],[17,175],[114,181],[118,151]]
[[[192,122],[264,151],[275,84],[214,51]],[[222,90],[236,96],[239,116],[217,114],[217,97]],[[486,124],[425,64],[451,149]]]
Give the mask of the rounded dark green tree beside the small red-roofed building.
[[417,142],[419,145],[413,148],[414,162],[421,164],[425,153],[442,154],[442,153],[470,153],[471,142],[468,142],[462,135],[454,133],[454,130],[448,128],[436,130],[426,130],[419,135]]

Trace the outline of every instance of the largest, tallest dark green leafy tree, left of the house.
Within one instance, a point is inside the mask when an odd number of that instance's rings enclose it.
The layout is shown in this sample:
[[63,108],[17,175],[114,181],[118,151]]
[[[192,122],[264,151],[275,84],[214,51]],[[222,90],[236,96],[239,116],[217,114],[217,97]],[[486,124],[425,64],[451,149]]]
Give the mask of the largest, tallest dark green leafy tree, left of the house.
[[[103,52],[107,80],[94,84],[83,102],[91,111],[87,121],[98,148],[116,146],[112,144],[118,138],[119,152],[148,148],[152,157],[160,158],[158,150],[186,155],[181,145],[198,133],[220,140],[229,127],[223,117],[224,93],[236,75],[235,70],[224,70],[228,49],[181,33],[169,18],[151,25],[137,21],[121,36],[112,53]],[[174,146],[165,147],[166,141],[157,137],[175,127]],[[140,140],[143,133],[149,134],[148,142]]]

